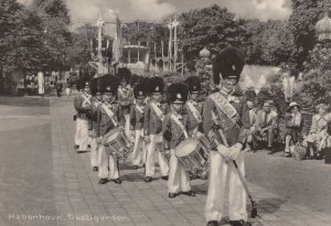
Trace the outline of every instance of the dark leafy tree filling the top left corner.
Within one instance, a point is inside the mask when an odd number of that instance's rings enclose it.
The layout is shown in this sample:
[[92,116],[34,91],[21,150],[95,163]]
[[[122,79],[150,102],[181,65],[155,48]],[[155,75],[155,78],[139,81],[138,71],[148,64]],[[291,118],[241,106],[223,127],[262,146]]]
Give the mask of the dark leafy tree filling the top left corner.
[[6,71],[33,72],[43,57],[40,39],[42,23],[38,15],[15,1],[2,1],[1,64]]

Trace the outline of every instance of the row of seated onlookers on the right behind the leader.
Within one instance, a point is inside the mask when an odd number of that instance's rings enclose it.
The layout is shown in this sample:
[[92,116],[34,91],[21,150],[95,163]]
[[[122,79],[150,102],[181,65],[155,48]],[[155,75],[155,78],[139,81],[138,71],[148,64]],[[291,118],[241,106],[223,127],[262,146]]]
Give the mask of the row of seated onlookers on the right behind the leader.
[[317,114],[308,115],[310,120],[303,120],[300,105],[292,101],[288,105],[281,122],[273,100],[265,100],[261,109],[256,109],[250,100],[247,101],[247,106],[250,136],[246,151],[256,152],[259,149],[267,149],[268,153],[273,154],[282,149],[287,158],[323,159],[324,149],[329,147],[329,133],[331,133],[329,128],[331,112],[328,112],[327,105],[319,104],[316,106]]

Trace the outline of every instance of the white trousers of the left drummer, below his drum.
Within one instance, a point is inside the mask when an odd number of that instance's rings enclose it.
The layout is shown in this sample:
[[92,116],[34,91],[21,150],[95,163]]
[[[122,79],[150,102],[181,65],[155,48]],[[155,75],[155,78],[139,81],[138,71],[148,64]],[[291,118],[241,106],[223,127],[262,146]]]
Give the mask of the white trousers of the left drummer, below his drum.
[[[99,146],[100,164],[98,176],[100,179],[115,180],[119,177],[118,161],[105,150],[104,146]],[[108,170],[109,166],[109,170]]]

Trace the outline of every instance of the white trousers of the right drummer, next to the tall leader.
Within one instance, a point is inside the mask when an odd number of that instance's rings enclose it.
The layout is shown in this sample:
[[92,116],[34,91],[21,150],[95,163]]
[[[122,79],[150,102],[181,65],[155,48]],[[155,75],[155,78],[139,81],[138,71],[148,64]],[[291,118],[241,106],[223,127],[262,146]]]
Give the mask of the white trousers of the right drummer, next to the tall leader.
[[184,170],[183,165],[179,162],[178,158],[175,157],[174,150],[171,150],[169,165],[170,171],[168,180],[168,192],[179,193],[191,191],[189,175]]

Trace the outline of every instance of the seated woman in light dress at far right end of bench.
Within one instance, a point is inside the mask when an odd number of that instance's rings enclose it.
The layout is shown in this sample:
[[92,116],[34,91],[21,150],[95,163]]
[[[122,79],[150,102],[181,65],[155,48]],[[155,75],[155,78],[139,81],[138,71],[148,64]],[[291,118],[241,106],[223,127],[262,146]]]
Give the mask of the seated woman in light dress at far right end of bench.
[[328,122],[331,121],[331,114],[327,114],[327,105],[320,104],[316,108],[318,114],[312,116],[310,132],[306,139],[309,159],[322,158],[321,151],[325,147],[325,138],[328,137]]

